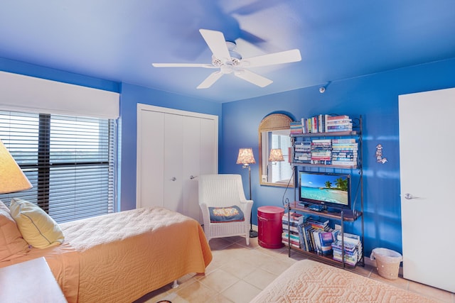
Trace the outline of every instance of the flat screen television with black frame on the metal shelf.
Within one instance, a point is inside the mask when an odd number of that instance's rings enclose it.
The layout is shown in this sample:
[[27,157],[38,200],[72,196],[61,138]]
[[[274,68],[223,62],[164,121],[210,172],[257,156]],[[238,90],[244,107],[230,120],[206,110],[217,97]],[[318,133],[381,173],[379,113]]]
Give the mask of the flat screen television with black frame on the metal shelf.
[[299,200],[336,209],[351,209],[350,175],[299,172]]

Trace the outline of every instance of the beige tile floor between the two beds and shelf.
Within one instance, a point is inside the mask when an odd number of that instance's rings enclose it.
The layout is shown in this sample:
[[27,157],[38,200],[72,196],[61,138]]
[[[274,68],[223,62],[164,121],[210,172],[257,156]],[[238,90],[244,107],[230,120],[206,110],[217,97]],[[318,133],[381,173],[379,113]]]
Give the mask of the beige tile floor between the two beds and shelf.
[[[172,284],[146,294],[135,303],[156,303],[168,299],[172,303],[203,302],[250,302],[275,277],[293,263],[303,260],[304,255],[291,252],[287,248],[267,249],[257,243],[257,238],[250,238],[246,246],[245,238],[230,237],[210,240],[213,260],[208,265],[205,275],[186,275],[178,280],[179,286]],[[368,263],[367,263],[368,264]],[[370,265],[353,269],[359,275],[390,283],[405,290],[424,294],[437,302],[455,303],[455,294],[434,287],[408,281],[399,277],[387,280],[380,277]]]

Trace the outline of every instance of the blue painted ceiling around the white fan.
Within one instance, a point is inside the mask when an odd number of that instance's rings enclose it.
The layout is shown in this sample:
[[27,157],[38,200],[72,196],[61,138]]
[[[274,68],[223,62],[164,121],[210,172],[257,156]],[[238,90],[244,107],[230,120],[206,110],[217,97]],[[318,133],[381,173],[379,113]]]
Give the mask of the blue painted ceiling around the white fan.
[[[319,87],[455,57],[454,0],[1,1],[0,57],[217,102]],[[250,70],[260,88],[213,70],[200,28],[222,31],[243,57],[297,48],[300,62]]]

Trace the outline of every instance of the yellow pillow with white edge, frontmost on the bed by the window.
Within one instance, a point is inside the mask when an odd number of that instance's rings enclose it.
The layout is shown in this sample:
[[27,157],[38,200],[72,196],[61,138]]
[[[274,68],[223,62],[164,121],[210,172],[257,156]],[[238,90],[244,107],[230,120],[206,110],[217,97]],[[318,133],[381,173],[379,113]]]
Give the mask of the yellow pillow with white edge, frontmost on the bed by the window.
[[31,246],[46,248],[59,245],[65,240],[60,226],[40,206],[13,198],[9,209],[22,237]]

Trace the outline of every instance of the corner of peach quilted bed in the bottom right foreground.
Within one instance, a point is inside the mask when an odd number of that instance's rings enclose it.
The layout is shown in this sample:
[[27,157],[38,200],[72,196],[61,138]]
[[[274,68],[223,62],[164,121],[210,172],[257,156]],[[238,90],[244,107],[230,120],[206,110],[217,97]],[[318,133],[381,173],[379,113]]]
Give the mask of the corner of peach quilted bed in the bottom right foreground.
[[285,270],[250,303],[264,302],[434,302],[354,272],[313,260]]

